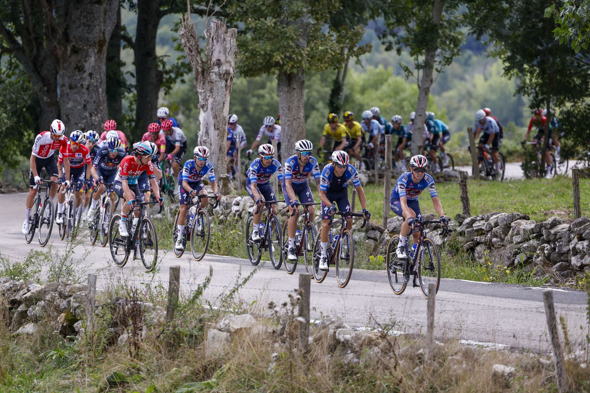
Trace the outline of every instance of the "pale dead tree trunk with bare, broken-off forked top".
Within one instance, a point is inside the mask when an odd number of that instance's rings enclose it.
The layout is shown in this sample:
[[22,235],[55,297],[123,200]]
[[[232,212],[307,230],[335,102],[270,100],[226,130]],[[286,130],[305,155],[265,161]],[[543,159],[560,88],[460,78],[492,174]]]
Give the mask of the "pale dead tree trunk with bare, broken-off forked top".
[[217,173],[225,173],[227,116],[230,112],[235,55],[238,52],[235,43],[237,30],[228,29],[224,22],[212,18],[205,31],[205,59],[201,57],[201,47],[195,25],[191,23],[190,9],[183,15],[178,32],[182,47],[191,62],[199,95],[199,144],[211,150],[211,162]]

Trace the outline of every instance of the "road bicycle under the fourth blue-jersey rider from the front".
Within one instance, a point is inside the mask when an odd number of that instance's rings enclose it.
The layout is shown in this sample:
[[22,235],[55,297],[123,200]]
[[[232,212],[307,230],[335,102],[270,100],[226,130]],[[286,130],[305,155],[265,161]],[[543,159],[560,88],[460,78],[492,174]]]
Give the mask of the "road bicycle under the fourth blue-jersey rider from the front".
[[[260,220],[260,226],[258,227],[258,234],[262,238],[261,240],[252,240],[252,232],[254,230],[254,214],[260,212],[260,206],[256,207],[254,213],[248,215],[246,221],[246,251],[248,253],[248,259],[250,263],[256,266],[260,263],[263,250],[268,251],[270,255],[270,262],[273,264],[275,269],[281,268],[281,255],[283,246],[283,237],[281,236],[281,222],[278,217],[273,214],[272,204],[284,202],[277,200],[263,201],[264,209],[262,211],[263,218]],[[264,213],[267,213],[266,222],[264,222]]]

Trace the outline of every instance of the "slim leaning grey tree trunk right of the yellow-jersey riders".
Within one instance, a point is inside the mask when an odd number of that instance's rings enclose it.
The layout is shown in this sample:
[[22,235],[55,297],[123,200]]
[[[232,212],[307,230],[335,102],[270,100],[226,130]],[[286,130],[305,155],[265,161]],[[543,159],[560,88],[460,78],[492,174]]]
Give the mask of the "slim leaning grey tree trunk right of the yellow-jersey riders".
[[[442,16],[442,1],[434,0],[432,5],[432,22],[438,29]],[[416,118],[414,119],[414,133],[412,134],[412,156],[418,154],[424,138],[422,137],[422,130],[424,129],[424,121],[426,120],[426,110],[428,108],[428,97],[430,95],[430,87],[432,86],[432,71],[434,70],[434,58],[436,50],[427,51],[424,54],[424,68],[422,69],[422,80],[420,81],[418,90],[418,103],[416,104]]]

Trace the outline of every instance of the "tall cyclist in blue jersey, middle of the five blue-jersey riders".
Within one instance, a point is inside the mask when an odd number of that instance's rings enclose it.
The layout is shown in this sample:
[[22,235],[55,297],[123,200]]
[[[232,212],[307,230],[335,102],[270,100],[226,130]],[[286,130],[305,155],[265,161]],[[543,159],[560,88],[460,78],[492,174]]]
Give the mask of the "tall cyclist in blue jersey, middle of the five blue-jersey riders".
[[[285,170],[283,177],[283,196],[289,208],[289,224],[287,224],[287,235],[289,235],[289,247],[287,249],[287,259],[297,260],[295,255],[295,233],[297,231],[297,219],[299,219],[299,209],[293,217],[293,209],[297,209],[299,202],[313,203],[312,190],[309,189],[307,177],[313,173],[313,179],[316,186],[320,185],[320,167],[316,158],[312,157],[313,144],[307,139],[299,140],[295,143],[297,154],[287,158],[285,161]],[[299,199],[299,202],[297,202]],[[313,206],[309,207],[309,212],[313,217]]]

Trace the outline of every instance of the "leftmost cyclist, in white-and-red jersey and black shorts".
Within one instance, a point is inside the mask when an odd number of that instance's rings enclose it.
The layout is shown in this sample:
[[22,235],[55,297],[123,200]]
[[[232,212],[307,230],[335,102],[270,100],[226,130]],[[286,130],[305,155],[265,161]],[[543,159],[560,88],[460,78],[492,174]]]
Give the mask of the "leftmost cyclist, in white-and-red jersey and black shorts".
[[[27,196],[27,202],[25,204],[25,222],[22,223],[22,233],[27,235],[29,233],[29,219],[31,216],[31,209],[35,203],[35,197],[37,197],[38,190],[34,188],[37,184],[41,184],[41,171],[45,169],[50,177],[51,181],[57,181],[58,170],[57,164],[55,164],[55,150],[61,148],[67,144],[68,138],[64,136],[65,126],[61,120],[55,119],[51,122],[50,131],[42,131],[35,137],[33,148],[31,151],[31,157],[29,163],[31,169],[29,170],[29,194]],[[64,162],[65,175],[68,179],[67,185],[70,185],[70,162],[65,160]],[[51,184],[49,191],[49,198],[51,202],[57,192],[57,184]]]

